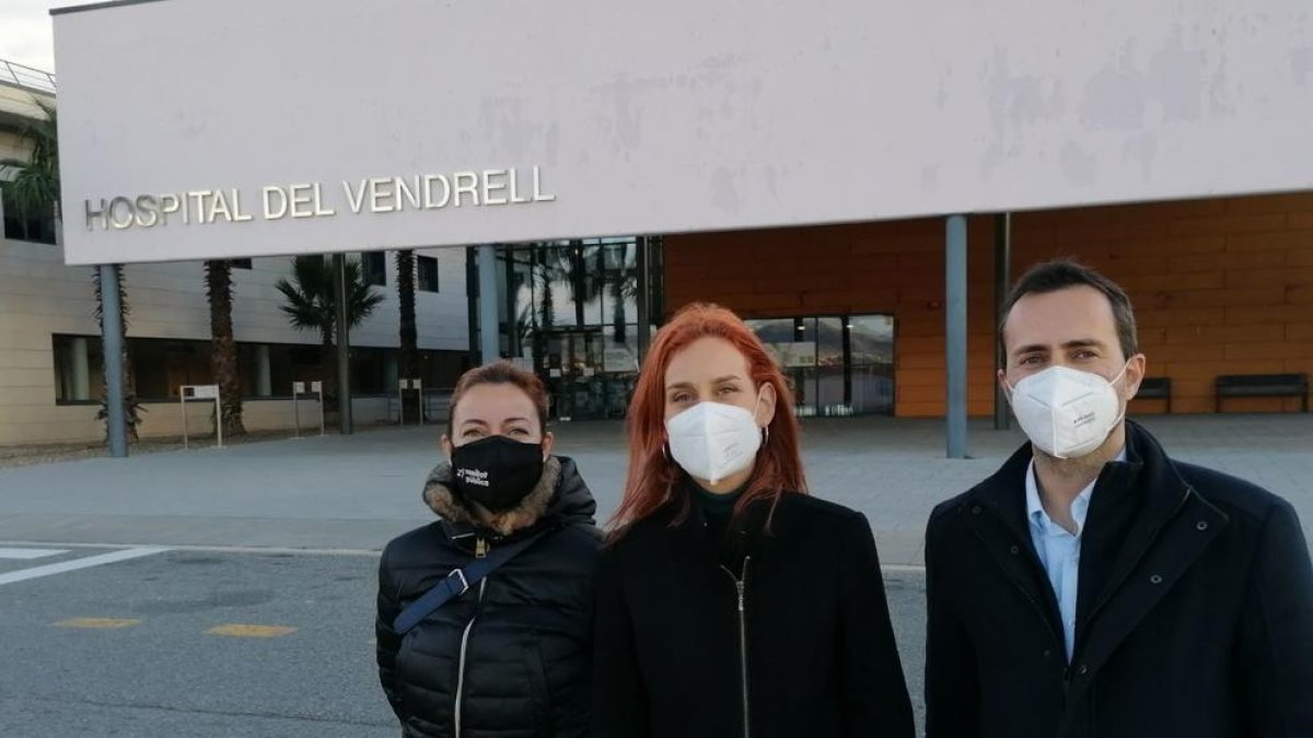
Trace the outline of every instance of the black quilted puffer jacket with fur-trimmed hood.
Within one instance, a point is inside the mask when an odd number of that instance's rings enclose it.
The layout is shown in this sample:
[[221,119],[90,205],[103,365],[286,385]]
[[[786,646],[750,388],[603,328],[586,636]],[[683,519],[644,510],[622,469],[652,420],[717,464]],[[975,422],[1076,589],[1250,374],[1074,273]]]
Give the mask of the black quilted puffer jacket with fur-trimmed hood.
[[[441,520],[387,544],[378,567],[378,676],[407,737],[587,735],[590,608],[600,533],[592,494],[551,457],[516,508],[477,525],[433,470],[424,502]],[[502,569],[399,637],[397,615],[474,557],[550,529]]]

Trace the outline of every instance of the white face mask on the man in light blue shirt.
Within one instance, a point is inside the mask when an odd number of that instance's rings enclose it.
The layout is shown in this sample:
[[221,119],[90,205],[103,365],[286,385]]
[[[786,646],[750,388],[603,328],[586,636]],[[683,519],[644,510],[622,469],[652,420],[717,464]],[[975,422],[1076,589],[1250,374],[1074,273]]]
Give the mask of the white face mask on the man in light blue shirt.
[[1036,448],[1056,458],[1079,458],[1103,445],[1121,422],[1121,398],[1111,381],[1090,372],[1049,366],[1010,386],[1012,412]]

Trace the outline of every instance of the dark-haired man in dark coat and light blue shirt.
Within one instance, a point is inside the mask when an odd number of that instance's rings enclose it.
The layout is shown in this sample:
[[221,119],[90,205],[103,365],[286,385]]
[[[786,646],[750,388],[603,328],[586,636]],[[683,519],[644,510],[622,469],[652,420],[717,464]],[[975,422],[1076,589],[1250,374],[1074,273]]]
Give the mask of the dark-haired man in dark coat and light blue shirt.
[[1031,443],[931,516],[928,737],[1313,737],[1289,503],[1124,420],[1145,357],[1106,277],[1036,267],[1002,336]]

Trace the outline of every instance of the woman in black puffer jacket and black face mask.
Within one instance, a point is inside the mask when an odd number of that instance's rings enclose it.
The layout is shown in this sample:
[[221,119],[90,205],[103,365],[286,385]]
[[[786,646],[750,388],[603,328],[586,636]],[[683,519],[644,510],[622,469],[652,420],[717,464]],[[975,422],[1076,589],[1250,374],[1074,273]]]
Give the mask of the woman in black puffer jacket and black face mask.
[[[546,393],[499,362],[452,397],[442,464],[424,486],[440,520],[391,541],[378,570],[378,675],[414,738],[583,737],[588,726],[592,494],[551,456]],[[456,569],[542,533],[404,634],[397,616]]]

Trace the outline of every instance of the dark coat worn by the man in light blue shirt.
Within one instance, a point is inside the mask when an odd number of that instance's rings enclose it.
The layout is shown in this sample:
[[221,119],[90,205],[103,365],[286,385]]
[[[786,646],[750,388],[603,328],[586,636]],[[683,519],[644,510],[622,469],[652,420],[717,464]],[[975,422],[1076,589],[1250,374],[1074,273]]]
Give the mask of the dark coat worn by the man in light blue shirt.
[[1029,445],[926,541],[927,734],[1313,737],[1313,569],[1291,506],[1127,424],[1082,532],[1075,647],[1025,519]]

